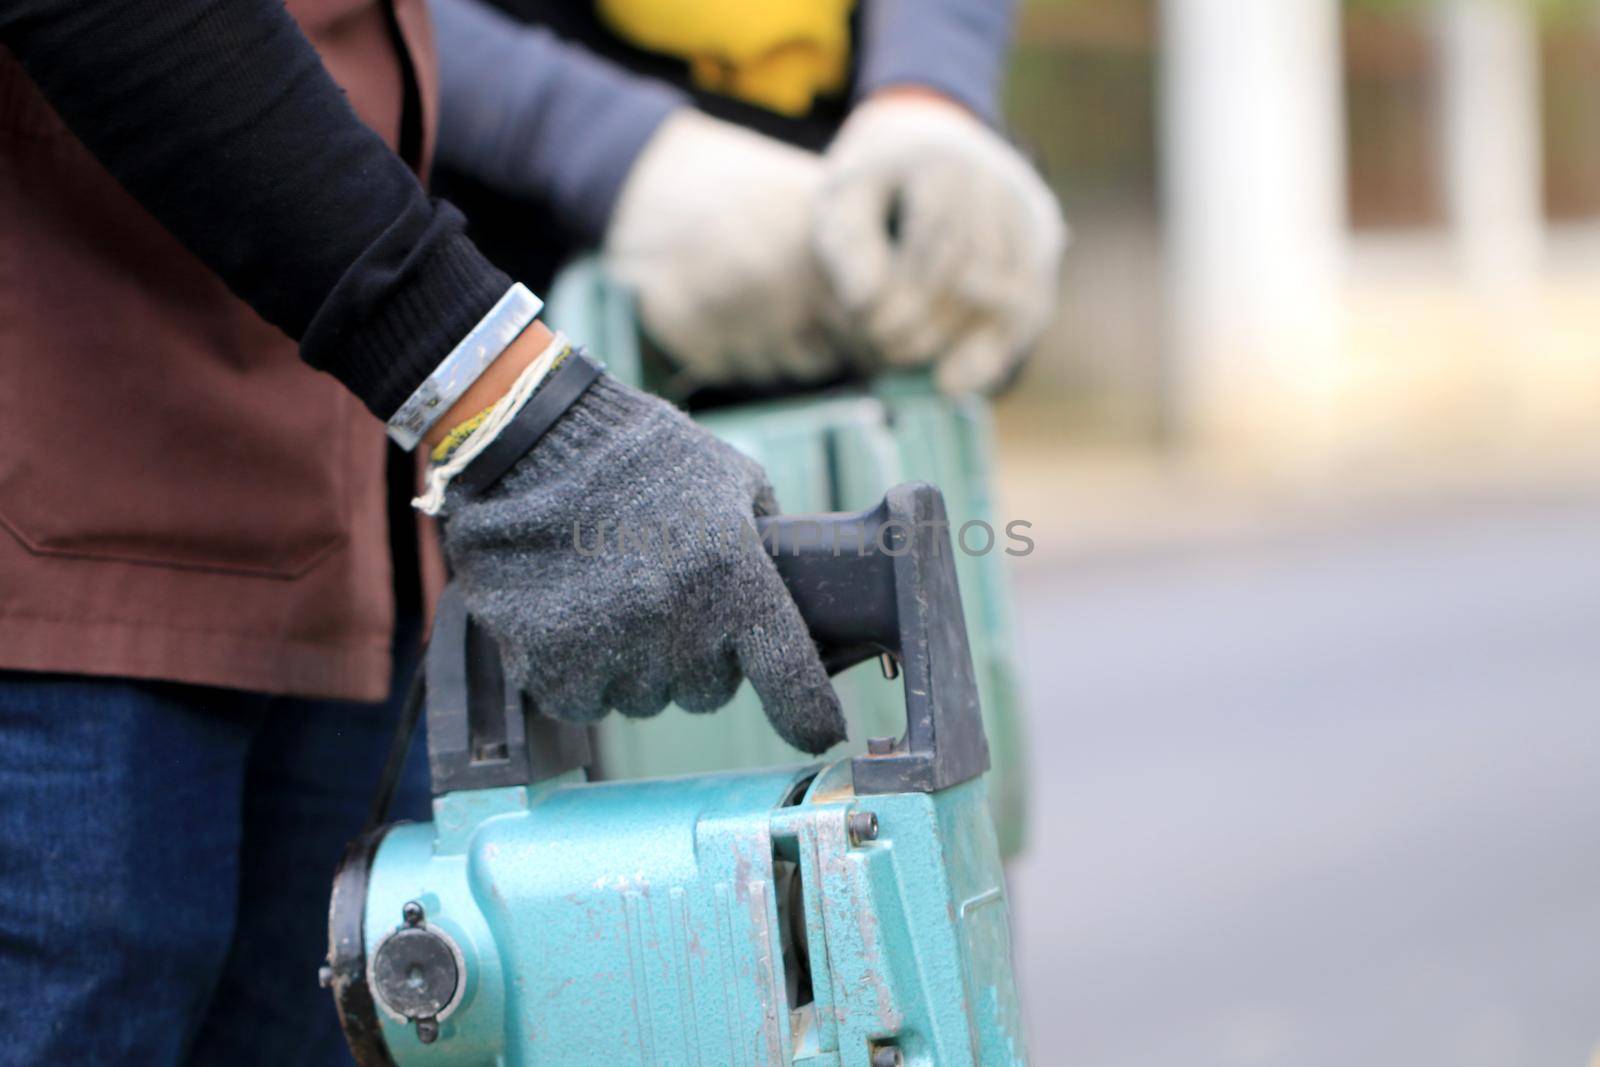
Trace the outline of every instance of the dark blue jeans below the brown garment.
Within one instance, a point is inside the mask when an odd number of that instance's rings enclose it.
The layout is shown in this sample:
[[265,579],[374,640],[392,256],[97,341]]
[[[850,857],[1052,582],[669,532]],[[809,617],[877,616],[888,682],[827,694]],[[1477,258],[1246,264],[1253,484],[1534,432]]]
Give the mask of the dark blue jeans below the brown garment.
[[[349,1064],[328,889],[405,673],[352,704],[0,672],[0,1064]],[[395,819],[427,817],[418,734]]]

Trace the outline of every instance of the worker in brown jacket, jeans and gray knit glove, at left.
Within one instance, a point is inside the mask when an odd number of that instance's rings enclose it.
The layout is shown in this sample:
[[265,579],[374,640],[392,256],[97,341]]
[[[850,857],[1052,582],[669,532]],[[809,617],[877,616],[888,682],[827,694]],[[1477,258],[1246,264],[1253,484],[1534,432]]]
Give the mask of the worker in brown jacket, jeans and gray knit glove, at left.
[[709,710],[746,675],[797,744],[843,736],[758,549],[563,571],[528,525],[774,504],[424,194],[422,0],[8,0],[0,46],[0,1062],[344,1059],[328,875],[421,600],[397,627],[386,427],[472,470],[581,378],[493,486],[434,478],[530,699]]

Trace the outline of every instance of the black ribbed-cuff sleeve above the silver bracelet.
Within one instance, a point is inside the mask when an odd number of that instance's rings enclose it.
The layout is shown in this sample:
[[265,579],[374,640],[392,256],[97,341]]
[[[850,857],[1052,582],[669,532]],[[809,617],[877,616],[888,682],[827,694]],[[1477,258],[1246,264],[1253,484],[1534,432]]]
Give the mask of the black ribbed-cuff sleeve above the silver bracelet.
[[282,0],[3,0],[0,45],[146,210],[382,419],[510,285]]

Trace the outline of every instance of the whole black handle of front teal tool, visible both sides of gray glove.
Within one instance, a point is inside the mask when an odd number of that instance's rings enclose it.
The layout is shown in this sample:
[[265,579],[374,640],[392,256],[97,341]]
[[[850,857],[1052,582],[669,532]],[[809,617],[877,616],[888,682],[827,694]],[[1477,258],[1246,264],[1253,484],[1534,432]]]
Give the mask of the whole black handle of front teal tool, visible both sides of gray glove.
[[[882,653],[906,683],[906,736],[856,757],[858,793],[934,792],[989,768],[944,498],[901,485],[864,512],[757,523],[829,672]],[[446,587],[427,659],[434,793],[518,785],[589,761],[587,731],[528,715],[493,641]]]

